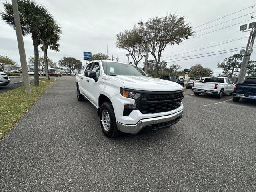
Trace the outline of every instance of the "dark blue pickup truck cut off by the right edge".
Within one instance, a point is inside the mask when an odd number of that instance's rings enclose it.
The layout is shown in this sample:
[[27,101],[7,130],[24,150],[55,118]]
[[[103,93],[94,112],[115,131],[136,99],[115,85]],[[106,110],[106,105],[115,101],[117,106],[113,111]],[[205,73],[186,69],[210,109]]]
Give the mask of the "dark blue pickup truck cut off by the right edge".
[[233,101],[240,98],[256,100],[256,78],[247,78],[243,83],[236,84],[233,91]]

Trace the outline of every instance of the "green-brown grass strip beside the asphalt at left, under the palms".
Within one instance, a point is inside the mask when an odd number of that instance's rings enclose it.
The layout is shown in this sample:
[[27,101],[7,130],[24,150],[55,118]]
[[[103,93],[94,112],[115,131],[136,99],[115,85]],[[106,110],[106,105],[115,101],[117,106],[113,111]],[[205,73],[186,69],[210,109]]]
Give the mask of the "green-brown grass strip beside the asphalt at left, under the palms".
[[50,79],[49,82],[46,82],[45,79],[40,79],[39,87],[34,87],[32,83],[31,94],[25,93],[24,86],[0,94],[0,140],[54,81],[55,79]]

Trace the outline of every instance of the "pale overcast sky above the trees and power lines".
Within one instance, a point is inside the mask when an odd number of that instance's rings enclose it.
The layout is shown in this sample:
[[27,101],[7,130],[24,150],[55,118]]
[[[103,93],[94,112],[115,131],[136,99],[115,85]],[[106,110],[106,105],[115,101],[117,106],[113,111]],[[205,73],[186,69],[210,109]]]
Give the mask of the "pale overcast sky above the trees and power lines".
[[[7,1],[11,2],[11,0]],[[2,11],[2,2],[4,1],[0,0],[0,2],[0,10]],[[120,50],[115,46],[115,35],[126,29],[132,28],[132,26],[140,20],[146,21],[148,18],[155,16],[164,16],[166,12],[176,12],[181,16],[186,16],[186,21],[190,22],[193,27],[196,27],[256,4],[255,0],[40,0],[38,2],[49,10],[62,27],[60,52],[49,51],[48,57],[56,63],[58,63],[58,60],[64,56],[74,57],[82,60],[84,64],[83,51],[92,52],[92,54],[98,52],[106,54],[107,44],[109,56],[114,54],[114,58],[119,57],[119,61],[127,62],[127,57],[125,56],[127,52],[125,50]],[[194,31],[196,32],[233,18],[252,13],[255,10],[256,6],[254,6],[254,8],[248,8],[215,22],[195,28]],[[239,26],[241,24],[238,23],[249,20],[250,16],[251,14],[202,30],[201,32],[197,32],[196,35],[237,24],[235,26],[184,40],[180,45],[167,46],[163,52],[163,60],[170,62],[172,61],[170,60],[172,58],[180,58],[246,46],[248,38],[244,37],[248,36],[249,32],[240,32]],[[256,16],[256,14],[254,14],[254,16]],[[249,23],[249,21],[244,22],[244,24],[246,23]],[[15,62],[20,64],[15,31],[13,28],[5,24],[3,20],[0,20],[0,29],[0,55],[9,56]],[[233,39],[238,38],[243,39],[183,54],[184,52],[205,48],[220,44],[219,42],[224,43],[224,41],[228,42],[228,40],[232,41]],[[24,38],[24,44],[28,60],[30,56],[34,56],[31,36]],[[195,64],[201,64],[204,67],[211,68],[214,70],[214,74],[218,75],[218,73],[221,72],[221,70],[217,68],[218,62],[222,62],[224,58],[237,53],[239,52],[236,51],[218,54],[215,56],[171,62],[169,64],[179,64],[182,68],[190,68]],[[174,56],[177,54],[179,55]],[[251,59],[256,59],[254,55],[255,53],[252,54]],[[40,56],[43,56],[43,53],[40,53]],[[144,61],[141,61],[140,63],[143,64],[143,62]]]

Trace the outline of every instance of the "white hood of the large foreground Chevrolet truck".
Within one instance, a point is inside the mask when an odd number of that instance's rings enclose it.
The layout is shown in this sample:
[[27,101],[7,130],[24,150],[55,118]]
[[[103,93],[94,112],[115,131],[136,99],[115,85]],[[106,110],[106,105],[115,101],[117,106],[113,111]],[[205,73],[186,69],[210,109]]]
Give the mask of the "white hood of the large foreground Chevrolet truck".
[[144,91],[178,91],[183,87],[175,82],[144,76],[112,76],[124,83],[124,88]]

